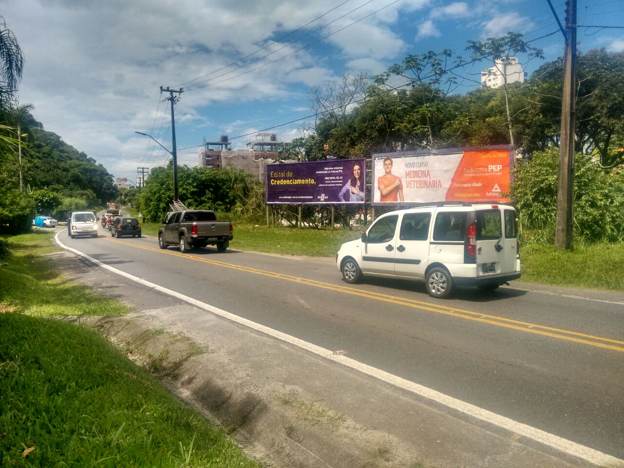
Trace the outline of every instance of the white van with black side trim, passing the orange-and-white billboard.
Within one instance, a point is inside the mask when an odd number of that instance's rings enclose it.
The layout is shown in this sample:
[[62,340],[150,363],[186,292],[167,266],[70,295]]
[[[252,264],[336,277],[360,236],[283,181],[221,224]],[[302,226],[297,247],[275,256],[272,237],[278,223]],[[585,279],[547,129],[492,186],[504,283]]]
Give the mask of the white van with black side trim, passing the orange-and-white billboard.
[[344,281],[422,278],[429,295],[455,286],[495,290],[520,278],[518,224],[509,205],[438,203],[385,213],[336,256]]

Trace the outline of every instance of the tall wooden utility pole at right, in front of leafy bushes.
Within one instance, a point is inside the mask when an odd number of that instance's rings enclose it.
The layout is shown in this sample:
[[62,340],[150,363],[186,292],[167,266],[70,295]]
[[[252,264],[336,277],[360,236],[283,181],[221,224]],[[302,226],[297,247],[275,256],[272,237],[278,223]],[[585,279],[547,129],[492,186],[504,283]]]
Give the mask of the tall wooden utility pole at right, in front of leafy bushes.
[[574,196],[574,143],[576,129],[575,80],[577,70],[577,0],[565,2],[565,48],[563,49],[563,95],[557,188],[555,250],[572,249]]

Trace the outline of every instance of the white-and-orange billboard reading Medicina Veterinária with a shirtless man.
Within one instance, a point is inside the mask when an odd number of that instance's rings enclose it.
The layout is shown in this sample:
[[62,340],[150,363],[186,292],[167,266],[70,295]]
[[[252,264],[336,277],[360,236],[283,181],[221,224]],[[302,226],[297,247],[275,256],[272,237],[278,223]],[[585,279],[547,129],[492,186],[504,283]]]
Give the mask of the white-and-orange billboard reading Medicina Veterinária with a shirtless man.
[[373,203],[509,202],[509,145],[373,155]]

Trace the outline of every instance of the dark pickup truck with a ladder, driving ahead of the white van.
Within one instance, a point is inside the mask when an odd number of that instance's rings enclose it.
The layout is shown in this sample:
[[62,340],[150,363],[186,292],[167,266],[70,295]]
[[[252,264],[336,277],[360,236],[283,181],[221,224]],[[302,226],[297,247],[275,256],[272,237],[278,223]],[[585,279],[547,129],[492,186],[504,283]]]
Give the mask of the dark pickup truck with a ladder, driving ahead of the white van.
[[179,245],[180,252],[209,244],[216,245],[218,251],[225,252],[232,238],[232,223],[217,221],[215,212],[210,210],[168,213],[164,224],[158,229],[160,248]]

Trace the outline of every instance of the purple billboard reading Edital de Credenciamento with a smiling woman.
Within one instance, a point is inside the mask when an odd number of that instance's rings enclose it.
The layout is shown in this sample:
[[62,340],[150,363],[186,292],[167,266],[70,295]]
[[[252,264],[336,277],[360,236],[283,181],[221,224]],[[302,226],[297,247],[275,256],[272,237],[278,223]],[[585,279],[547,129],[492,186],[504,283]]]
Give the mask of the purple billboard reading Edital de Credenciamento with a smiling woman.
[[295,162],[266,165],[266,203],[364,203],[366,160]]

